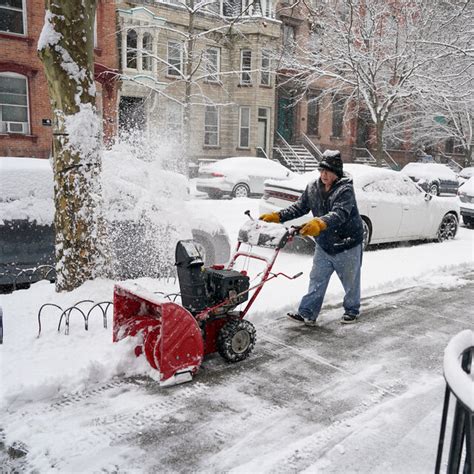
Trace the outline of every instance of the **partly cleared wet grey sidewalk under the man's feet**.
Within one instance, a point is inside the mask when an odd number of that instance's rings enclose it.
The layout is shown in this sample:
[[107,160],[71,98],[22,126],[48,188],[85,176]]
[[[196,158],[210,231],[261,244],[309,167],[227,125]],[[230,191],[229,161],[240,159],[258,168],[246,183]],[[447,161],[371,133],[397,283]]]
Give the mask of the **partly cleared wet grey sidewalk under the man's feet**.
[[147,378],[116,377],[75,394],[10,401],[6,445],[21,442],[28,454],[4,465],[39,472],[432,472],[443,350],[472,325],[473,280],[471,271],[449,288],[366,299],[360,322],[349,327],[339,324],[339,308],[326,307],[317,328],[257,314],[252,356],[234,365],[210,357],[191,384],[164,390]]

